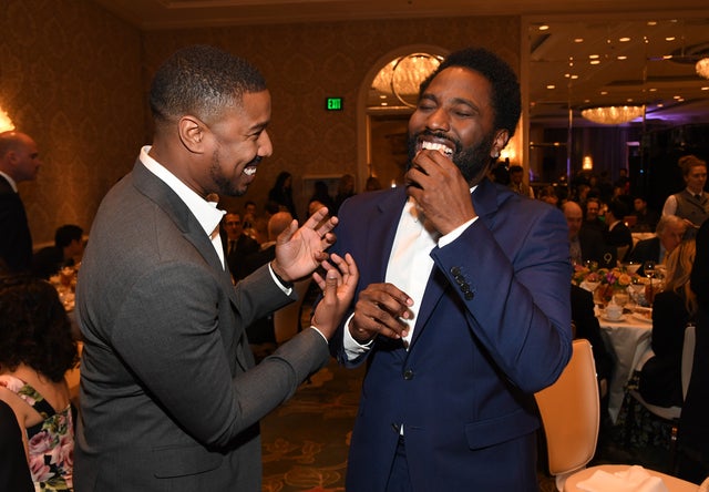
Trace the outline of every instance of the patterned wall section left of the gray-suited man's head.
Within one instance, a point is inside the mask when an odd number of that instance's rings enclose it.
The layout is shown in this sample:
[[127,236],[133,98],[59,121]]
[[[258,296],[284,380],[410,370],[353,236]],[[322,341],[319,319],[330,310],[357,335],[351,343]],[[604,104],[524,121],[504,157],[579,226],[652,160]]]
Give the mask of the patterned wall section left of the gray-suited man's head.
[[43,162],[19,184],[32,238],[89,233],[145,142],[140,31],[86,0],[2,0],[0,32],[0,107]]

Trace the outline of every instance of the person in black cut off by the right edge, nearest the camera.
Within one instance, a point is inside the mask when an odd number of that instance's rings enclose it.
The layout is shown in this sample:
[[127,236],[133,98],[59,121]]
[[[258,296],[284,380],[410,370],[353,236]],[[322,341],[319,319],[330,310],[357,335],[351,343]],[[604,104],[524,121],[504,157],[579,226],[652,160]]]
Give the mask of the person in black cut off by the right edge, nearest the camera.
[[697,345],[677,438],[678,476],[700,483],[709,476],[709,221],[697,232],[690,287],[697,295]]

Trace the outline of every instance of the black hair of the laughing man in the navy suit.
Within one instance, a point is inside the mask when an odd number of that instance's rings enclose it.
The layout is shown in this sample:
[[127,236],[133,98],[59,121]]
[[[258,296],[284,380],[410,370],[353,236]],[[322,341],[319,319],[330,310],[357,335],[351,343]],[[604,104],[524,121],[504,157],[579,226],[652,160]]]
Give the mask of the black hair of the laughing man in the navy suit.
[[435,75],[451,66],[473,70],[490,81],[492,106],[495,110],[495,130],[504,129],[512,137],[522,114],[520,82],[512,68],[495,53],[484,48],[466,48],[449,54],[438,69],[421,83],[419,93],[423,94]]

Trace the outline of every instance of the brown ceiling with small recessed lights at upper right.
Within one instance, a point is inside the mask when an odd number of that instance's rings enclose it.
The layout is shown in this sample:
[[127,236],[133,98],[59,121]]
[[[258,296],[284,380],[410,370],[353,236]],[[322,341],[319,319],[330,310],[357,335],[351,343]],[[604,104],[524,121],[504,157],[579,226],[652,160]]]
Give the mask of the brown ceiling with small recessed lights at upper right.
[[[532,123],[567,124],[569,110],[582,122],[580,109],[606,104],[647,104],[647,119],[677,124],[709,121],[709,80],[695,72],[696,61],[709,57],[706,0],[93,1],[141,30],[522,16],[528,22],[522,72]],[[590,64],[590,55],[598,64]]]

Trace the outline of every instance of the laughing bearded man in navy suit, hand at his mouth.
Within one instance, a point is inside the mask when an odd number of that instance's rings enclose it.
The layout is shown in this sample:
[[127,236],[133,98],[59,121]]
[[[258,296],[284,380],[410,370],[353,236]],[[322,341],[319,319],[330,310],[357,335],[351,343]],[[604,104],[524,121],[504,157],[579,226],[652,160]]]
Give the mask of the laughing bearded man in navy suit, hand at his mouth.
[[571,357],[571,263],[563,214],[485,177],[520,111],[505,62],[451,54],[421,85],[405,187],[339,211],[360,280],[331,349],[368,363],[349,492],[537,490],[533,396]]

